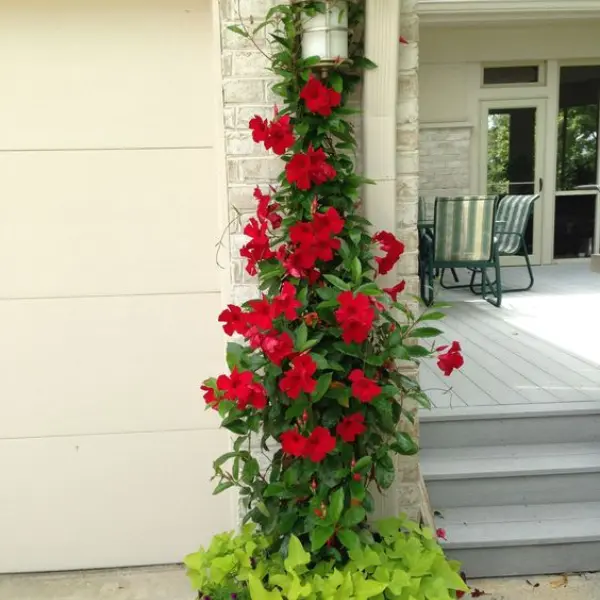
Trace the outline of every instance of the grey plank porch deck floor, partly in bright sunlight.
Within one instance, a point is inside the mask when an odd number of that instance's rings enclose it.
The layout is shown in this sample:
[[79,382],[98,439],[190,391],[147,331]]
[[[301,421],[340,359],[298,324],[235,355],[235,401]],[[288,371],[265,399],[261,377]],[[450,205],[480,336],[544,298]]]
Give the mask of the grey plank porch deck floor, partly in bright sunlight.
[[[505,285],[522,275],[504,269]],[[600,274],[582,260],[538,267],[535,276],[531,291],[507,294],[500,309],[468,290],[438,293],[453,303],[440,328],[460,341],[465,365],[450,378],[422,365],[434,410],[600,401]]]

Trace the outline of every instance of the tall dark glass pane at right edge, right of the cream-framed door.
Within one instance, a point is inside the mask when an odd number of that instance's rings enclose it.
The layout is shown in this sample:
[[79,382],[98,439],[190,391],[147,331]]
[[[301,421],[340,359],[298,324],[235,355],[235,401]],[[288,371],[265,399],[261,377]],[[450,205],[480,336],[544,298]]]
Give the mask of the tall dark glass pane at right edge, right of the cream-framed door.
[[554,258],[585,258],[600,244],[598,179],[600,67],[560,69]]

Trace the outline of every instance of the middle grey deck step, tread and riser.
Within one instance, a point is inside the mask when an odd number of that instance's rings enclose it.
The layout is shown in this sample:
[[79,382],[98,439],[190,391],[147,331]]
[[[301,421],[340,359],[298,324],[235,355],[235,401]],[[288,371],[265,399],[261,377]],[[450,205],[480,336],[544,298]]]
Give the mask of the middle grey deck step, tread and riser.
[[426,449],[421,465],[434,509],[600,498],[600,442]]

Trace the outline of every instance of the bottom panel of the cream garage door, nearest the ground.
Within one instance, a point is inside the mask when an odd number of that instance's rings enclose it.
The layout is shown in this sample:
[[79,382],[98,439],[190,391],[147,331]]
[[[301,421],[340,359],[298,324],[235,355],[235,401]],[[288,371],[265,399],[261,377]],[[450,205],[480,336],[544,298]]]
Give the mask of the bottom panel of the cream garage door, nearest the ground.
[[0,442],[0,572],[167,564],[233,527],[223,432]]

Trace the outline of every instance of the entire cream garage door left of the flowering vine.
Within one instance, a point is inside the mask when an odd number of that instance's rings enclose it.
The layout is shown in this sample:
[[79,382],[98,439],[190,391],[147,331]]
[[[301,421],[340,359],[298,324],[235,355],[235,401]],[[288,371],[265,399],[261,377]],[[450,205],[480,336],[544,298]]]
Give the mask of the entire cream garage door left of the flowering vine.
[[0,0],[0,572],[232,526],[208,0]]

